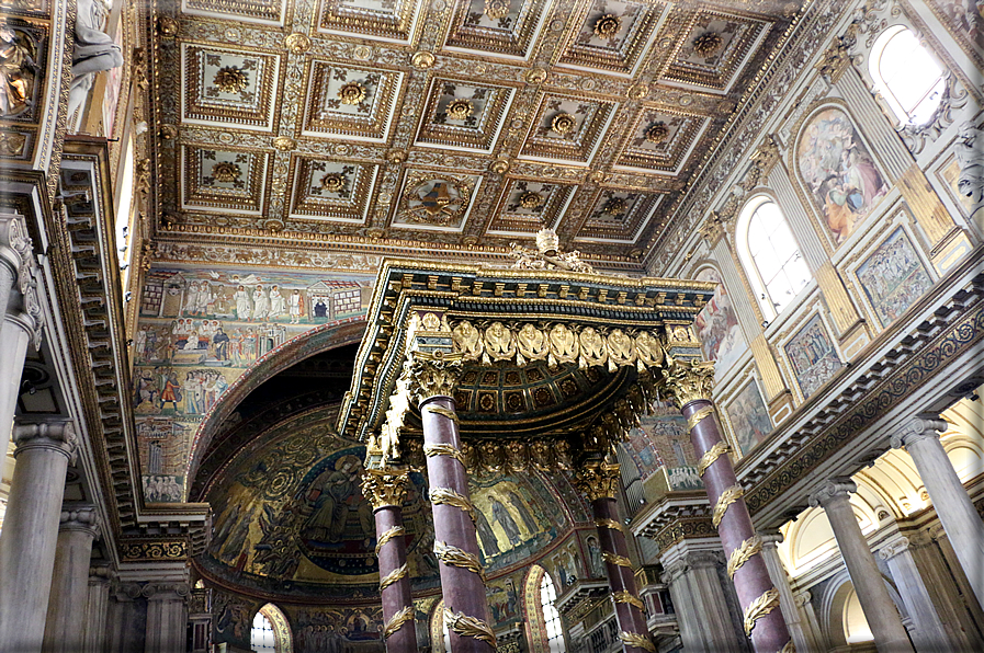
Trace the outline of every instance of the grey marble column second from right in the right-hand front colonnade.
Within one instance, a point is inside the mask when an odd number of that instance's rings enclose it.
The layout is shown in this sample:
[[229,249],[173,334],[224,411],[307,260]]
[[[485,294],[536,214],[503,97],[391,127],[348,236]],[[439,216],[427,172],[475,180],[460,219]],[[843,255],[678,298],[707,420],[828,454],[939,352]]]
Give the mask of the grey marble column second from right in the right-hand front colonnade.
[[822,506],[827,515],[879,653],[912,653],[902,617],[848,501],[848,494],[856,490],[850,479],[833,479],[810,496],[810,503]]

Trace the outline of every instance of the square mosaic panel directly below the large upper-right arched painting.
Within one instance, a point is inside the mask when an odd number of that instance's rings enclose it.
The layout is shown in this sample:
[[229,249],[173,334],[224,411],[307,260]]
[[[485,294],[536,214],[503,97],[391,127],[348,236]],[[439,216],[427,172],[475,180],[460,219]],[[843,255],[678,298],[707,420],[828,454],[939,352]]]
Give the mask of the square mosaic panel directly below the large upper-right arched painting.
[[882,326],[895,321],[932,287],[926,266],[902,227],[858,267],[858,280]]

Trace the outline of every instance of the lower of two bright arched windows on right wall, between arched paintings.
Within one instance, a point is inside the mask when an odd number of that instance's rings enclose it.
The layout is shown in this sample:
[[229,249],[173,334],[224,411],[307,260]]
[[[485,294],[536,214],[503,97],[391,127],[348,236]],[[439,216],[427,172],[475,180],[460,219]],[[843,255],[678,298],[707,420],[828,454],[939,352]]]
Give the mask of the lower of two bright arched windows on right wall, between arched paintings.
[[742,211],[738,254],[759,305],[771,320],[810,280],[810,268],[779,206],[759,195]]

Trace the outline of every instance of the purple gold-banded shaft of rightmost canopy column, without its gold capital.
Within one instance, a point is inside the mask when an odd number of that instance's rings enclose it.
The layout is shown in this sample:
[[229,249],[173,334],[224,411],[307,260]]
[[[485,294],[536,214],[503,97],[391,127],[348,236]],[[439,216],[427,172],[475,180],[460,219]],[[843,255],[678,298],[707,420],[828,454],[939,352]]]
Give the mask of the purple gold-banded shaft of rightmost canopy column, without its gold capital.
[[[681,412],[692,424],[690,442],[697,457],[710,455],[715,448],[719,452],[704,469],[703,482],[708,499],[715,514],[719,514],[717,535],[725,555],[732,558],[739,548],[754,550],[750,543],[755,541],[755,527],[745,500],[736,492],[740,486],[731,458],[722,449],[724,438],[714,417],[713,403],[708,399],[693,399],[683,404]],[[756,652],[788,650],[792,640],[779,609],[779,592],[772,585],[761,551],[746,557],[744,563],[734,570],[732,580],[745,611],[745,629],[746,632],[751,629],[751,643]]]

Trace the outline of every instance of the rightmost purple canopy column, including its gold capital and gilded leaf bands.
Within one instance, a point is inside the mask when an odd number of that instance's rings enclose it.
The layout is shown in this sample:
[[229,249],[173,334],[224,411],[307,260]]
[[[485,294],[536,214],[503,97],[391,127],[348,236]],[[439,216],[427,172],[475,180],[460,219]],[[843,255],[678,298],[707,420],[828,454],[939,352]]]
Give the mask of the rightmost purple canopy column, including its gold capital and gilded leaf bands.
[[675,360],[663,375],[667,392],[690,426],[690,442],[700,459],[699,470],[713,506],[713,523],[728,557],[728,574],[744,611],[745,634],[751,638],[756,653],[791,651],[792,640],[779,611],[779,593],[769,578],[761,543],[755,537],[745,505],[745,491],[735,477],[735,468],[726,455],[728,447],[714,416],[711,401],[714,367],[708,363]]

